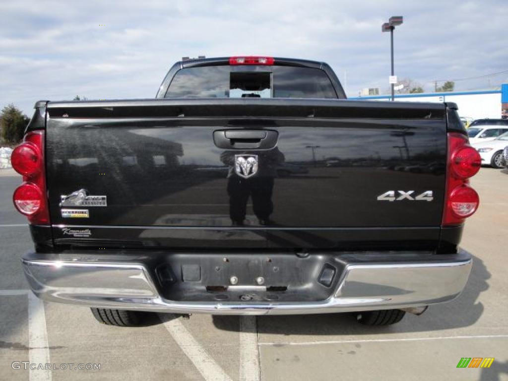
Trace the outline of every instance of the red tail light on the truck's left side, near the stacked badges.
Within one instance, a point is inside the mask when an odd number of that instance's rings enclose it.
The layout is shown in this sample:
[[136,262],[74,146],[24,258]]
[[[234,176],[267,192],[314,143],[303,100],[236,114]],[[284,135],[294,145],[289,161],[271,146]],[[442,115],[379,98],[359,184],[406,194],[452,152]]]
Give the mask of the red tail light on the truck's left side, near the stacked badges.
[[49,208],[44,173],[44,131],[29,132],[12,151],[12,167],[23,175],[13,195],[14,206],[30,224],[49,225]]

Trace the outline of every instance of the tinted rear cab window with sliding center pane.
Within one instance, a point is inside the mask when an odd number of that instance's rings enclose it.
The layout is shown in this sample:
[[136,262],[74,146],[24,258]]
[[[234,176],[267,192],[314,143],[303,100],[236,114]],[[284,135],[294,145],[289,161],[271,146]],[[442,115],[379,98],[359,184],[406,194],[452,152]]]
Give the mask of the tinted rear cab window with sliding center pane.
[[325,71],[290,66],[207,66],[179,70],[165,98],[337,99]]

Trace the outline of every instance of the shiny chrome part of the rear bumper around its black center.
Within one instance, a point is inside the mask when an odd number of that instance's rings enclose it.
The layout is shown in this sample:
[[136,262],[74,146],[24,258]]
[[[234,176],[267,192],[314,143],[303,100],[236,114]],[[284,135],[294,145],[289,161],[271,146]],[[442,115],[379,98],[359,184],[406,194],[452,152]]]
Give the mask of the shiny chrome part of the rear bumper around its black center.
[[[146,259],[146,257],[144,257]],[[408,308],[446,302],[465,287],[472,259],[461,251],[430,260],[366,262],[348,259],[332,297],[321,302],[181,302],[167,300],[139,257],[58,256],[22,259],[41,299],[90,307],[234,315],[304,314]]]

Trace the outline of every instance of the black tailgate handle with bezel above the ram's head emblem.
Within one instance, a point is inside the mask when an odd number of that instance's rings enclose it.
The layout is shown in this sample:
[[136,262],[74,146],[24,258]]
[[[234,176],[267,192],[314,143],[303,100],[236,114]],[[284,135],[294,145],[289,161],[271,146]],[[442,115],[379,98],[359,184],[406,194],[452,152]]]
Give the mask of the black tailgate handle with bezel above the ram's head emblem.
[[278,133],[272,130],[217,130],[213,141],[224,149],[271,149],[277,145]]

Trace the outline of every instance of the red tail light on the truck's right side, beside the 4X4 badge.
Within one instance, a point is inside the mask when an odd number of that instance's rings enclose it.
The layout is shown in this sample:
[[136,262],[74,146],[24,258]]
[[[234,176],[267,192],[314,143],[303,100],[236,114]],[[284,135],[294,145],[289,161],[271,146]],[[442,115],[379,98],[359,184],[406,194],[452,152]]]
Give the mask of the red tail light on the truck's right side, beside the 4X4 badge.
[[469,186],[469,178],[480,170],[480,154],[459,133],[448,134],[447,185],[443,226],[460,225],[480,204],[478,193]]

